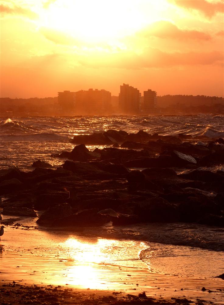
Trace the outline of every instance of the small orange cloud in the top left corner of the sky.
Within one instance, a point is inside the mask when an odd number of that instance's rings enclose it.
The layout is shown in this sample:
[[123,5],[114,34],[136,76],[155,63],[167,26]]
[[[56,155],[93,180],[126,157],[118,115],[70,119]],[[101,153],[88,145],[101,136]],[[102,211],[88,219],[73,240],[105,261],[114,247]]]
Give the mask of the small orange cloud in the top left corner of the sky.
[[23,8],[19,5],[10,5],[10,4],[0,4],[0,11],[2,16],[4,15],[20,15],[26,16],[29,19],[37,19],[38,15],[31,11],[30,9]]

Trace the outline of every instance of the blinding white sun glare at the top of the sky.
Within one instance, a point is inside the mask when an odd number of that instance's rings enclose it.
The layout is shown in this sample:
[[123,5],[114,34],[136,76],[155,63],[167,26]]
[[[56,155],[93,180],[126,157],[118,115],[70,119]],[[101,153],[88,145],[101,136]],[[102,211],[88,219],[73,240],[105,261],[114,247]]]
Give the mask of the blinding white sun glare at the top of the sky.
[[142,0],[56,0],[41,13],[39,27],[87,43],[109,42],[131,35],[158,19],[161,1],[149,0],[150,16],[144,16]]

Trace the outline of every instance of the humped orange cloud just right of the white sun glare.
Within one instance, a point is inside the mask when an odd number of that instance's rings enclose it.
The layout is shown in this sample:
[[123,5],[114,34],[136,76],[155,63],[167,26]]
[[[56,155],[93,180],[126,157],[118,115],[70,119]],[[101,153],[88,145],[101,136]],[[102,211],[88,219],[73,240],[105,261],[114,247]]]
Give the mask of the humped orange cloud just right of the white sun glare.
[[212,37],[198,30],[180,29],[169,21],[157,21],[139,32],[145,37],[172,38],[177,40],[210,40]]

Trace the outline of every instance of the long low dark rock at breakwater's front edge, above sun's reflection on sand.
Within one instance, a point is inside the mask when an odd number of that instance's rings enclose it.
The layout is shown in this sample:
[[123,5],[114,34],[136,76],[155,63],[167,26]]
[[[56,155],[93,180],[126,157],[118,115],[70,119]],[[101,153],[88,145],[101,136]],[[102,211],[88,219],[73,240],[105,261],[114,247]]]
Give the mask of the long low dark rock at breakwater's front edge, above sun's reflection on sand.
[[60,227],[89,227],[107,223],[109,221],[108,217],[106,215],[98,214],[98,212],[98,209],[83,210],[71,216],[59,219],[57,222],[54,222],[53,225]]

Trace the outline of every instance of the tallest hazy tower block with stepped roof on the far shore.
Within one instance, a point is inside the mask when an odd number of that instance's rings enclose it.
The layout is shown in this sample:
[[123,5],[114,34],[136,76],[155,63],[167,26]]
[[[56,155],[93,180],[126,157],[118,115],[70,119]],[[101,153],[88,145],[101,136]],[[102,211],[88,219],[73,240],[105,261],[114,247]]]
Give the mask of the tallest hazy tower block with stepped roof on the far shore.
[[138,114],[141,93],[137,88],[123,84],[120,86],[119,108],[124,114]]

